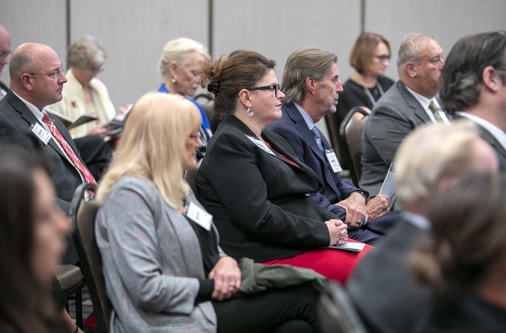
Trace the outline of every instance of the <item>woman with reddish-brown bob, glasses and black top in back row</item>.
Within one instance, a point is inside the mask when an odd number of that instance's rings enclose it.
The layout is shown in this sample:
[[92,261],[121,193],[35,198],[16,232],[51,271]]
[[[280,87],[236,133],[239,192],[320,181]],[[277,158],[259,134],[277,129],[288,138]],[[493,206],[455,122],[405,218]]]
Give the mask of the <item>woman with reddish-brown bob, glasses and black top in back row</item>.
[[384,76],[390,56],[390,43],[382,35],[363,32],[358,36],[349,59],[355,72],[343,85],[344,91],[339,94],[335,112],[339,123],[354,107],[366,107],[370,111],[394,84],[392,79]]

